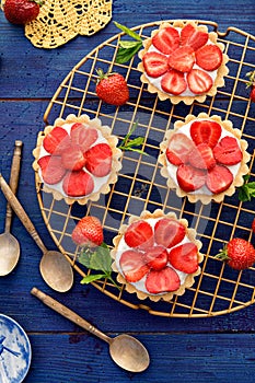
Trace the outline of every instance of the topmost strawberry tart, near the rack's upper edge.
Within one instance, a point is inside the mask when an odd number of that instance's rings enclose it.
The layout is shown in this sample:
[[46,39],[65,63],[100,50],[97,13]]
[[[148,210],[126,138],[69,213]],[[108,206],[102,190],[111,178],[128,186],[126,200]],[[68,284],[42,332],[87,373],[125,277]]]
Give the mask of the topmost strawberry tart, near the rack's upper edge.
[[206,25],[192,21],[162,23],[143,40],[143,47],[138,65],[141,81],[160,100],[170,98],[173,104],[202,103],[224,85],[223,78],[229,72],[224,45],[217,42],[217,34],[208,32]]

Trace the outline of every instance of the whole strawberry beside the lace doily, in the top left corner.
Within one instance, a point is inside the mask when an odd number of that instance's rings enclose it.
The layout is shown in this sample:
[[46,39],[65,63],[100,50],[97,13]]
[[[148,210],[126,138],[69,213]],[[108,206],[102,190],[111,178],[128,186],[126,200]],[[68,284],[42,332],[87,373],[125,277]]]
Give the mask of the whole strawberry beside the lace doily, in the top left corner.
[[3,11],[12,24],[27,24],[39,14],[42,0],[5,0]]

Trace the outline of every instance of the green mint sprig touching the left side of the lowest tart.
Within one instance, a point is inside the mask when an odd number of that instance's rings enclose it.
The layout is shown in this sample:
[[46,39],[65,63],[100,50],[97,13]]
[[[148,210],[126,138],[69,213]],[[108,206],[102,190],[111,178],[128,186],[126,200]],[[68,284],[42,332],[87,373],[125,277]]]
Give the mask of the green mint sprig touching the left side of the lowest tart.
[[79,255],[79,262],[90,270],[100,271],[83,277],[81,280],[82,285],[89,285],[100,279],[109,279],[119,289],[112,277],[113,259],[109,248],[105,243],[102,243],[101,246],[95,248],[83,248]]

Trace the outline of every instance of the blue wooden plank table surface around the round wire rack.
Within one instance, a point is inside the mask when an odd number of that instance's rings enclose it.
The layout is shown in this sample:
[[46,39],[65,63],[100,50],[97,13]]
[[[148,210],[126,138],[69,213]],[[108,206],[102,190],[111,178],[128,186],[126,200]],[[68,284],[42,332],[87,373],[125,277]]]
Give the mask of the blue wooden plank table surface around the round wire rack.
[[[23,27],[9,24],[0,13],[0,172],[9,179],[14,141],[21,139],[24,147],[18,197],[47,247],[56,245],[39,210],[32,150],[44,128],[49,101],[77,62],[118,33],[113,21],[134,27],[175,19],[213,21],[219,31],[231,25],[255,35],[254,0],[114,0],[113,19],[103,31],[91,37],[78,36],[51,50],[35,48],[24,37]],[[255,51],[253,57],[255,62]],[[251,108],[254,115],[254,105]],[[0,193],[0,232],[4,217],[5,199]],[[33,357],[25,382],[254,382],[254,305],[215,317],[150,315],[113,300],[93,286],[82,286],[77,272],[73,288],[58,293],[42,279],[40,251],[16,217],[12,233],[21,243],[21,258],[12,272],[0,279],[0,313],[18,321],[31,340]],[[120,370],[111,360],[106,344],[42,304],[30,293],[33,287],[109,336],[136,336],[149,350],[149,369],[140,374]]]

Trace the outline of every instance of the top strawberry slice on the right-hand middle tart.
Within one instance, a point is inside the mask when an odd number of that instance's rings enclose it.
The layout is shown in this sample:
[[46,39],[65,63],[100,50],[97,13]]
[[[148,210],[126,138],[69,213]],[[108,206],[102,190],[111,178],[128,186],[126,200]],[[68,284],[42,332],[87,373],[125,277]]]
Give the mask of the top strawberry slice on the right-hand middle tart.
[[207,143],[213,148],[221,136],[221,126],[208,119],[197,120],[190,125],[190,136],[196,144]]

